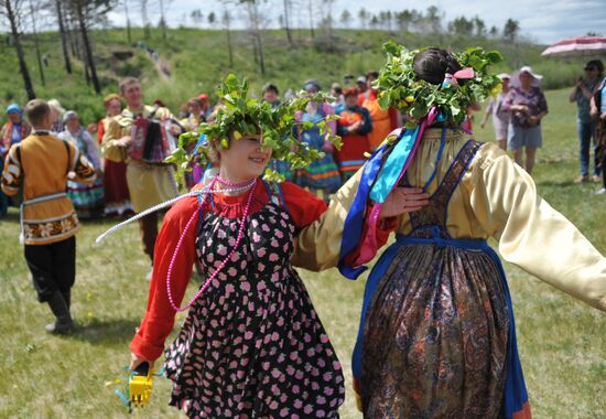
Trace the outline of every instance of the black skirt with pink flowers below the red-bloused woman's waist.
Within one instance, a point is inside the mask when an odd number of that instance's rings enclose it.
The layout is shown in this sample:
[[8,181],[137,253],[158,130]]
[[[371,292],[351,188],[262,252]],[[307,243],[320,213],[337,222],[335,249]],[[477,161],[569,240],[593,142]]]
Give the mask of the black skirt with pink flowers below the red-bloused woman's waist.
[[296,272],[279,277],[252,293],[215,280],[198,298],[166,350],[172,406],[191,418],[338,418],[340,364]]

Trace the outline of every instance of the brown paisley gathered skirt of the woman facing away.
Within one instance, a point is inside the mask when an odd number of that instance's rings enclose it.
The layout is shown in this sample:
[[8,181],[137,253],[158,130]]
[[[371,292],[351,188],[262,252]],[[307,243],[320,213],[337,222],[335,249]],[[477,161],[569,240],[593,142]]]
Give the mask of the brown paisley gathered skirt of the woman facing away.
[[487,253],[402,245],[366,313],[365,417],[500,417],[508,330],[500,269]]

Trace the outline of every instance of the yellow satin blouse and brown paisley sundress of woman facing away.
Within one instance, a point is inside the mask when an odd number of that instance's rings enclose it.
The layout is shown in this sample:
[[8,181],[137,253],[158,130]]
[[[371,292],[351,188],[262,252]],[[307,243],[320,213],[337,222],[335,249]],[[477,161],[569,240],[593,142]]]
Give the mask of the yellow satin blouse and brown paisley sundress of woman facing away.
[[[435,171],[430,205],[398,218],[398,240],[388,260],[377,264],[385,265],[382,278],[362,313],[359,385],[368,417],[502,415],[506,352],[515,342],[507,283],[481,246],[462,249],[457,243],[494,237],[504,259],[606,310],[606,259],[537,194],[532,179],[495,144],[476,143],[459,154],[469,146],[461,131],[448,131],[436,162],[441,135],[425,131],[408,170],[412,185],[425,184]],[[468,161],[461,162],[466,153]],[[457,165],[453,181],[450,169]],[[360,172],[301,233],[295,266],[336,266],[359,181]],[[444,185],[451,185],[447,198],[440,197]],[[437,237],[419,228],[441,222]],[[521,412],[529,415],[528,406]]]

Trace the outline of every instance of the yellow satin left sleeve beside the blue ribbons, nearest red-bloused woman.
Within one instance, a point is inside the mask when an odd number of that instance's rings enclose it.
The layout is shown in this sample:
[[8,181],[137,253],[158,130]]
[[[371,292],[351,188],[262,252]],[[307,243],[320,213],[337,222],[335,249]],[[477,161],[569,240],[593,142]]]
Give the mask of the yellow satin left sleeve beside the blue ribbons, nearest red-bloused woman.
[[293,266],[313,271],[337,266],[343,225],[356,197],[361,172],[361,170],[358,170],[333,195],[328,210],[322,214],[320,219],[301,230],[292,257]]

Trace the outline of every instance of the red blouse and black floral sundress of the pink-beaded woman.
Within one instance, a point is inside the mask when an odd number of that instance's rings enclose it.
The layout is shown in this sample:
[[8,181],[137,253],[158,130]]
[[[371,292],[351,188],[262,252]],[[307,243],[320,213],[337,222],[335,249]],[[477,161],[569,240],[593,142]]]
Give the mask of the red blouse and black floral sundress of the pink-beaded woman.
[[[275,192],[259,181],[253,193],[242,243],[166,350],[166,374],[174,382],[171,405],[196,418],[335,418],[345,396],[342,367],[290,264],[297,230],[326,206],[289,183]],[[231,250],[247,195],[216,195],[194,219],[199,229],[187,232],[173,265],[176,303],[194,260],[208,277]],[[197,208],[196,198],[185,198],[162,225],[148,311],[131,343],[140,357],[159,357],[171,332],[167,267]]]

